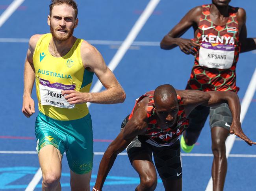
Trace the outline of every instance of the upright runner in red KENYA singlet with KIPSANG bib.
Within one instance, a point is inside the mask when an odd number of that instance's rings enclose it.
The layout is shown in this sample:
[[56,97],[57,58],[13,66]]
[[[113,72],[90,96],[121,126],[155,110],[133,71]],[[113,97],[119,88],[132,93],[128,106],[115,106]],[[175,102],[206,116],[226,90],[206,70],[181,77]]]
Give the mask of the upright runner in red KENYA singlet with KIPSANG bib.
[[[179,46],[182,52],[195,56],[186,89],[235,93],[239,90],[236,86],[239,52],[256,49],[256,38],[247,38],[245,10],[229,6],[230,1],[212,0],[212,4],[191,9],[161,41],[162,49]],[[194,29],[194,39],[180,38],[190,27]],[[181,138],[181,147],[191,151],[209,113],[213,190],[216,191],[223,190],[227,170],[225,140],[232,116],[226,104],[194,109],[189,115],[189,128]]]

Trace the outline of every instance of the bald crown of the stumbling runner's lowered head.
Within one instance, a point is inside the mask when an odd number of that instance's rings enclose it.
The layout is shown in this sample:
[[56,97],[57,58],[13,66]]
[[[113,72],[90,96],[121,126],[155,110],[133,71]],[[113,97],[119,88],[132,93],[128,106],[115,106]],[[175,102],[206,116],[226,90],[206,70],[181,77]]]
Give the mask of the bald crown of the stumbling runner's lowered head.
[[154,92],[154,102],[156,106],[159,104],[178,104],[174,87],[170,84],[158,86]]

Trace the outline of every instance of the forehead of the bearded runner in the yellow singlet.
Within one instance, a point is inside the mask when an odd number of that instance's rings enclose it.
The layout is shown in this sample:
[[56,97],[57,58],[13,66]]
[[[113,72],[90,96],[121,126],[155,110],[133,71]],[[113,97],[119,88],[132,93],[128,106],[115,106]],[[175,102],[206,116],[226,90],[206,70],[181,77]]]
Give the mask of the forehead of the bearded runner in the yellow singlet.
[[73,7],[67,4],[54,5],[52,8],[52,16],[73,16],[75,17],[76,13]]

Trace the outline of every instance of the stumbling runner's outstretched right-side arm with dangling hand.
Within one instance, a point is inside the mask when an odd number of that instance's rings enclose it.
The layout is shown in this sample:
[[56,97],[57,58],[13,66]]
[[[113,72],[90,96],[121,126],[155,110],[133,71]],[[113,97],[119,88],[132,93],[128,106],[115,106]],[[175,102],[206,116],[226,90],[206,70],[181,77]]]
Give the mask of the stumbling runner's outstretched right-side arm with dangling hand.
[[[177,93],[181,93],[177,91]],[[185,95],[184,95],[185,93]],[[230,91],[197,91],[197,90],[185,90],[182,91],[182,101],[185,105],[186,115],[189,115],[190,111],[198,105],[203,106],[216,106],[221,103],[227,103],[232,113],[232,124],[230,126],[230,134],[235,134],[241,139],[245,140],[250,146],[256,144],[252,142],[244,133],[241,128],[240,122],[240,102],[236,93]]]

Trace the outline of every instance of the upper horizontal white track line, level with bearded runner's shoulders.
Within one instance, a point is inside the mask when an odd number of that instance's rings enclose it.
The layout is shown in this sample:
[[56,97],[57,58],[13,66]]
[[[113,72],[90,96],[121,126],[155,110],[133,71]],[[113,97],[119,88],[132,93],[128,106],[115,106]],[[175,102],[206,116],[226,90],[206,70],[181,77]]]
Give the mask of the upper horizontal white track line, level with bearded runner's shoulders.
[[[118,40],[86,40],[94,45],[121,45],[123,41]],[[29,38],[0,38],[0,42],[28,43]],[[134,41],[132,45],[137,46],[160,46],[160,42]]]

